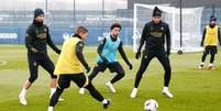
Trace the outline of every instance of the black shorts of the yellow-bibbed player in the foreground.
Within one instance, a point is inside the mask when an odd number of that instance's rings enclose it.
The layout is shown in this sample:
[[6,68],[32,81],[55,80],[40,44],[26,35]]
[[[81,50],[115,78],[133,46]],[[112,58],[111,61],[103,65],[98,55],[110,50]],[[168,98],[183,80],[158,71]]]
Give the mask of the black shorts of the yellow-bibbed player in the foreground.
[[59,75],[58,87],[63,89],[69,88],[70,81],[74,81],[79,88],[82,88],[88,85],[88,77],[84,73]]

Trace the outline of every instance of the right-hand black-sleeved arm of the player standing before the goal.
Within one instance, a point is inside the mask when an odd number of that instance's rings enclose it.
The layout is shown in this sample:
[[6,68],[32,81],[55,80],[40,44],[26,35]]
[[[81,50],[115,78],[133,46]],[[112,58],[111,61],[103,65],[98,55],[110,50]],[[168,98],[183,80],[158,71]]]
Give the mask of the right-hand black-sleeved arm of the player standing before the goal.
[[168,24],[166,24],[166,53],[167,53],[167,56],[170,54],[170,41],[172,41],[172,37],[170,37],[170,30],[169,30],[169,26]]

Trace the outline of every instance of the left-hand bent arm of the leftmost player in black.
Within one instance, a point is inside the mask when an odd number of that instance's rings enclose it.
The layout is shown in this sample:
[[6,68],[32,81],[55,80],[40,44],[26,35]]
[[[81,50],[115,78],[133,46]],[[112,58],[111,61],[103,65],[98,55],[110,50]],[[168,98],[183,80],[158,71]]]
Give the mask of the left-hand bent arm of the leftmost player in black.
[[36,53],[37,49],[34,48],[34,46],[32,45],[32,43],[33,43],[33,36],[34,36],[34,29],[29,27],[26,30],[26,35],[25,35],[25,46],[26,46],[27,51]]

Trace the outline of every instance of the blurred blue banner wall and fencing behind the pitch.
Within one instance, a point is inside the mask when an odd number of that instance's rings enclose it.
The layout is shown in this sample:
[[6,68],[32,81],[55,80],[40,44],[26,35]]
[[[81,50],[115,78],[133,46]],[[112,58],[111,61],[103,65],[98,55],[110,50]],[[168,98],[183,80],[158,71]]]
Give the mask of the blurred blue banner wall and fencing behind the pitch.
[[[109,32],[113,22],[123,26],[121,38],[125,45],[132,45],[134,35],[134,3],[167,4],[173,8],[202,8],[200,32],[214,14],[220,22],[220,0],[0,0],[0,44],[23,44],[26,27],[33,21],[33,10],[44,9],[45,24],[51,29],[53,41],[62,44],[78,25],[89,30],[88,45],[99,44],[98,38]],[[142,9],[146,10],[146,9]],[[142,11],[140,11],[142,12]],[[151,13],[151,11],[150,11]],[[179,13],[179,11],[177,12]],[[142,14],[142,13],[141,13]],[[143,13],[140,16],[146,16]],[[140,18],[137,16],[137,18]],[[189,15],[191,20],[191,15]],[[143,29],[144,19],[137,27]],[[135,21],[137,22],[137,21]],[[191,21],[186,21],[191,22]],[[176,24],[180,25],[180,23]],[[183,27],[185,23],[183,23]],[[200,35],[199,35],[200,36]]]

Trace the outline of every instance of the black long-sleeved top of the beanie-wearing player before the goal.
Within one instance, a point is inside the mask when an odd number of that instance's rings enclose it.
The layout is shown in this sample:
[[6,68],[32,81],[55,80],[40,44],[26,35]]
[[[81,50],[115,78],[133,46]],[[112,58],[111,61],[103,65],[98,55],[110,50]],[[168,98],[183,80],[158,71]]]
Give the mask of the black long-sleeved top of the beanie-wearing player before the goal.
[[145,24],[139,52],[145,43],[145,51],[165,51],[165,41],[167,52],[170,52],[170,31],[169,26],[165,22],[155,24],[153,21]]

